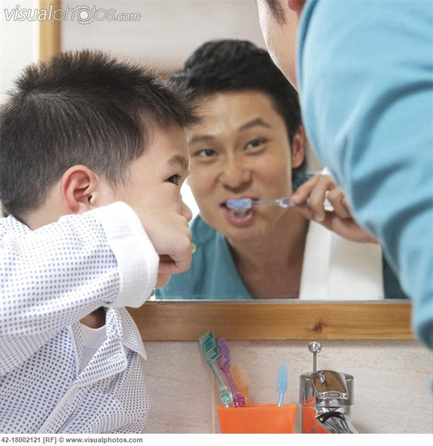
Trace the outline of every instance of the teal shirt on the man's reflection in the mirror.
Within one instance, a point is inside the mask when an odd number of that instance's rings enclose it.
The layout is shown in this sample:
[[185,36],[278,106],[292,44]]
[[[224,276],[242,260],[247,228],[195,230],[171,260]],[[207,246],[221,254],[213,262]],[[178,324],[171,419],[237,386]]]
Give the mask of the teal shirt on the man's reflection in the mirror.
[[[191,224],[197,251],[191,268],[173,275],[168,285],[155,291],[157,299],[250,300],[249,291],[238,274],[225,237],[203,222],[200,215]],[[405,299],[392,270],[384,263],[385,297]]]

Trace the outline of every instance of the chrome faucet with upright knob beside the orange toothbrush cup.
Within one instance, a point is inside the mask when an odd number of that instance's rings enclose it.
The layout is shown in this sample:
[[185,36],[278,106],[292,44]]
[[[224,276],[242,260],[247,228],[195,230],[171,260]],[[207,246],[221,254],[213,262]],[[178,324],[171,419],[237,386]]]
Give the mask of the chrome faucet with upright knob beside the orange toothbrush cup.
[[353,405],[353,376],[333,370],[316,370],[316,356],[321,348],[319,342],[309,343],[313,372],[300,376],[302,434],[357,434],[349,416]]

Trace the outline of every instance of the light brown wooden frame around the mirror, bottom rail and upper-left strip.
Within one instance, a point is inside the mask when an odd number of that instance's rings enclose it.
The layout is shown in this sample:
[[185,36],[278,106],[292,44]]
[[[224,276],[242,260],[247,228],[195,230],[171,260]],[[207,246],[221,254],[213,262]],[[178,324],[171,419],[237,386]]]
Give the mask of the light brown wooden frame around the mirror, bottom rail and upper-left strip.
[[[39,7],[60,8],[60,0]],[[40,59],[60,52],[60,22],[40,23]],[[414,339],[408,301],[149,301],[129,309],[145,341],[226,339]]]

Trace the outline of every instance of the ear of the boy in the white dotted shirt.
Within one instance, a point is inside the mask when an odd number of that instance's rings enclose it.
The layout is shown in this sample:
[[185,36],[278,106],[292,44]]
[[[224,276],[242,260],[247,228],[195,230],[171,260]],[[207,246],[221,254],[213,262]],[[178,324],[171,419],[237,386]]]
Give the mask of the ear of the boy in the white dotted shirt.
[[65,211],[78,214],[92,209],[98,187],[99,178],[91,169],[83,165],[69,167],[60,182]]

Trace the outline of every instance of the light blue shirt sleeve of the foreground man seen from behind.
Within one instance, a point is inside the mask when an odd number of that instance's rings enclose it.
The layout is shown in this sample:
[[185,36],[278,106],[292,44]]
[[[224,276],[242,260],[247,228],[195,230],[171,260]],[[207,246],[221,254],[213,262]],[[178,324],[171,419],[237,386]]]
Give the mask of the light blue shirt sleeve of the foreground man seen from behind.
[[315,151],[384,248],[433,348],[433,2],[315,0],[298,82]]

